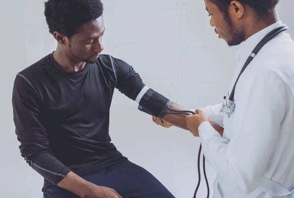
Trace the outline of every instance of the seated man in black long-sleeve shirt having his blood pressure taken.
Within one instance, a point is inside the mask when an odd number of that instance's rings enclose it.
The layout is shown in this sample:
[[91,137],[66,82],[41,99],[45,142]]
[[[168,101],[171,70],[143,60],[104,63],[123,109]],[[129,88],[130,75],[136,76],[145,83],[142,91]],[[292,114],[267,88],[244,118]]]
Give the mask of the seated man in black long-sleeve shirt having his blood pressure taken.
[[127,63],[100,55],[102,11],[100,0],[45,3],[58,46],[16,76],[12,103],[21,154],[44,177],[44,198],[174,198],[110,143],[114,89],[138,102],[146,86]]

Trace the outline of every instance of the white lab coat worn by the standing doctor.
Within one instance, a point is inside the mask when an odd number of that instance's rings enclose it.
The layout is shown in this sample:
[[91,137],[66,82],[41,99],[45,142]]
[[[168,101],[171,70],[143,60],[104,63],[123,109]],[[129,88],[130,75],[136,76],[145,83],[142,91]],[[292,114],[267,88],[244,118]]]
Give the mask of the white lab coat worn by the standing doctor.
[[[253,48],[281,24],[240,45],[229,93]],[[199,126],[203,153],[217,171],[213,198],[294,198],[294,42],[289,34],[271,40],[247,66],[235,104],[230,118],[220,113],[221,104],[203,109],[224,126],[223,137],[208,122]]]

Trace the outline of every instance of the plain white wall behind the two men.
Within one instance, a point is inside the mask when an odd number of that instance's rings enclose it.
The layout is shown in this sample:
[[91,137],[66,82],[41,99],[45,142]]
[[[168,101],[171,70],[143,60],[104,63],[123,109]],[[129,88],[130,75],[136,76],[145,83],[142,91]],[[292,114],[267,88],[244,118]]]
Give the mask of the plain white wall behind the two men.
[[[1,198],[41,198],[43,179],[20,156],[14,132],[11,92],[18,71],[55,49],[44,17],[44,0],[1,0],[0,144]],[[209,26],[203,1],[103,0],[104,53],[134,66],[147,86],[187,109],[222,102],[235,67],[234,48]],[[292,0],[278,9],[290,26]],[[154,125],[150,116],[116,91],[110,134],[131,161],[156,176],[176,198],[193,196],[199,139],[176,128]],[[207,164],[210,183],[215,172]],[[203,175],[202,175],[203,178]],[[198,197],[206,196],[204,179]]]

